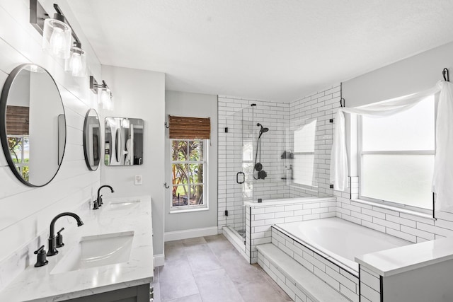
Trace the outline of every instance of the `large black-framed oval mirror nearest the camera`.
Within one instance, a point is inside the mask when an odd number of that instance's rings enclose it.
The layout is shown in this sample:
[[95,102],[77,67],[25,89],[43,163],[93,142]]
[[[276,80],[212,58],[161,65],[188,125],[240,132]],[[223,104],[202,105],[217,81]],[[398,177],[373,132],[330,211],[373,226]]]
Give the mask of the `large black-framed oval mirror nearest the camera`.
[[1,146],[14,175],[30,187],[47,185],[66,146],[66,118],[54,79],[40,66],[17,66],[1,91],[0,111]]

